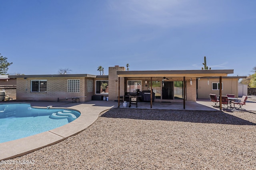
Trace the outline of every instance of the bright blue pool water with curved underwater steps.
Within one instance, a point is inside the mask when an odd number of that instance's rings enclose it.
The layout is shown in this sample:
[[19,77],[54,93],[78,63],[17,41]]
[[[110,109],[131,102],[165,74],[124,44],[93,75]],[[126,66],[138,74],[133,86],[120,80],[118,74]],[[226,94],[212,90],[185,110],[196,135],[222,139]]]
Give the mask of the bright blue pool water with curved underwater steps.
[[30,104],[0,104],[0,143],[66,125],[80,116],[72,109],[33,108]]

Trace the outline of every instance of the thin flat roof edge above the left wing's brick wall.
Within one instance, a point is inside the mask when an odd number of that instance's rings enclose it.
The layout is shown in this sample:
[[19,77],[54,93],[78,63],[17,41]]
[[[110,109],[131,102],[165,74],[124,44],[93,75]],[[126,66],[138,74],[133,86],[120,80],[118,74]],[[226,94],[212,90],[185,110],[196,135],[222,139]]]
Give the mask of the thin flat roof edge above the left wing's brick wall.
[[38,74],[38,75],[10,75],[10,78],[44,78],[44,77],[91,77],[96,78],[92,74]]

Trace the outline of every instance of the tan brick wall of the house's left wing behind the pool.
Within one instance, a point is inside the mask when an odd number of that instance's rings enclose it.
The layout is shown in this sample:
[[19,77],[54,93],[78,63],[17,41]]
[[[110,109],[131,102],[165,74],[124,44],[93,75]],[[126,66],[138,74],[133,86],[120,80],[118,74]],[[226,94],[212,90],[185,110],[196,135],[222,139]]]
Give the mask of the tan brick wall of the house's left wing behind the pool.
[[[68,79],[80,80],[80,92],[68,93]],[[47,80],[47,92],[30,92],[31,80]],[[93,80],[93,79],[92,79]],[[79,98],[80,102],[90,101],[93,92],[87,93],[87,82],[84,77],[68,78],[17,78],[17,100],[54,101],[65,98]],[[86,96],[86,97],[85,97]],[[65,101],[65,100],[62,100]],[[68,101],[72,101],[71,99]]]

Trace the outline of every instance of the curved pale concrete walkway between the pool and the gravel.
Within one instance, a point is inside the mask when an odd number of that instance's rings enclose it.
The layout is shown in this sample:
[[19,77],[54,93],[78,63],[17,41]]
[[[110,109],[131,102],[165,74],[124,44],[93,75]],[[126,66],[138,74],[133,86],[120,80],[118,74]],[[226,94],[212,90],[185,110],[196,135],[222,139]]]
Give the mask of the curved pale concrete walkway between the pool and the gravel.
[[78,104],[71,107],[51,107],[58,109],[75,109],[80,111],[81,115],[76,120],[56,129],[38,133],[33,136],[0,143],[0,160],[20,157],[30,152],[34,152],[35,150],[39,150],[44,147],[48,147],[50,145],[64,141],[68,137],[74,136],[84,129],[87,129],[98,119],[100,113],[109,110],[112,107],[115,106],[94,106],[94,104]]

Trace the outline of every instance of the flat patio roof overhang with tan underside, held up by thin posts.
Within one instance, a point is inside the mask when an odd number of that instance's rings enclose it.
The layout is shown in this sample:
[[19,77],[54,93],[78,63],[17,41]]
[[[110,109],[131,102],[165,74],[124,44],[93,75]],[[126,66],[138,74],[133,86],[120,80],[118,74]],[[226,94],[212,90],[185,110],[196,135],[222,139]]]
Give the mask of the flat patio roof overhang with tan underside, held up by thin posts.
[[228,76],[234,70],[148,70],[117,71],[118,77],[212,77]]

